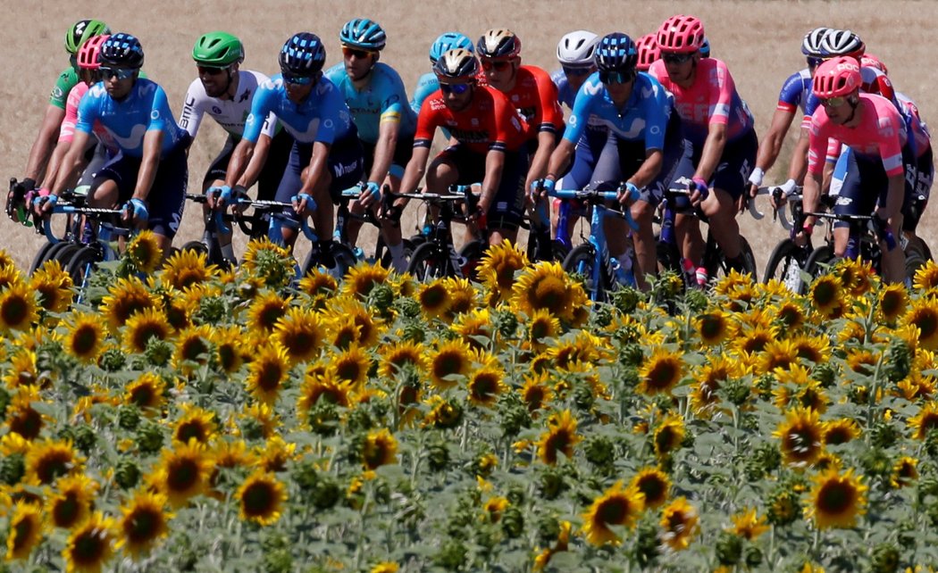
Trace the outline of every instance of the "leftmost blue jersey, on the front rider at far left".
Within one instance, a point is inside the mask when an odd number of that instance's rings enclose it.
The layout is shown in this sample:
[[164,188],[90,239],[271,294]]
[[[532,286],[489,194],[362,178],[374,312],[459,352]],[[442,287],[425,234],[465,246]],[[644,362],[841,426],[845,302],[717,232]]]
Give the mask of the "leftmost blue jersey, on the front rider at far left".
[[78,104],[75,129],[90,135],[96,120],[121,152],[132,158],[144,157],[147,131],[163,132],[160,157],[173,151],[186,134],[176,126],[166,92],[157,83],[144,78],[138,78],[127,97],[120,101],[108,95],[104,83],[92,85]]

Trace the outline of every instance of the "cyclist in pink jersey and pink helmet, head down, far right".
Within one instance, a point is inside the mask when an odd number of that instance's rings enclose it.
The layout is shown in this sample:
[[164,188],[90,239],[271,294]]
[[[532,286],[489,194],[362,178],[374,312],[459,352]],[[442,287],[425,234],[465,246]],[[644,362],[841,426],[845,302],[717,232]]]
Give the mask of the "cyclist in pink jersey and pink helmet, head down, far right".
[[[859,62],[852,57],[827,60],[815,73],[811,89],[821,106],[811,116],[805,210],[818,208],[825,157],[836,159],[840,143],[850,147],[853,153],[835,213],[865,215],[875,211],[883,219],[883,275],[886,280],[900,282],[905,276],[905,256],[896,248],[892,230],[902,228],[902,204],[910,190],[904,166],[915,161],[915,154],[896,107],[880,96],[861,94],[861,83]],[[807,218],[799,237],[811,233],[813,219]],[[852,238],[846,224],[835,226],[834,251],[838,256],[848,251]]]

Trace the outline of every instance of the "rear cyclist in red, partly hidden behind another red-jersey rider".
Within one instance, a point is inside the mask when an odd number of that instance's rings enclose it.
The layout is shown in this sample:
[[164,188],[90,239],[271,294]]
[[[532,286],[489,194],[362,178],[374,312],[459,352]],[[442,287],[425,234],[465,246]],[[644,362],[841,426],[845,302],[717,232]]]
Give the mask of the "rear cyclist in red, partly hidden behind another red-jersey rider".
[[564,129],[564,112],[551,74],[537,66],[522,66],[521,50],[522,40],[505,28],[489,30],[476,44],[486,82],[505,94],[531,127],[533,155],[524,187],[530,188],[547,173],[557,136]]

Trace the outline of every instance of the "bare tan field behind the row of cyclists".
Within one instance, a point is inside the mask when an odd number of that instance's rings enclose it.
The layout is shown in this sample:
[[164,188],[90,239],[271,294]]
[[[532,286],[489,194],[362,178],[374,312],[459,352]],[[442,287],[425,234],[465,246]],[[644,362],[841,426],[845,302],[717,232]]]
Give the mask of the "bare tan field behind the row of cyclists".
[[[361,9],[340,2],[310,0],[286,2],[260,0],[167,0],[164,2],[111,2],[76,0],[68,3],[27,3],[10,0],[4,10],[5,56],[0,59],[0,173],[22,177],[36,132],[45,112],[49,92],[59,72],[68,66],[63,38],[71,23],[98,18],[113,31],[129,32],[141,39],[146,53],[144,69],[166,90],[174,115],[182,107],[196,70],[190,58],[192,44],[201,34],[226,30],[242,38],[247,58],[243,68],[267,74],[278,71],[277,54],[283,42],[299,31],[311,31],[324,39],[326,66],[340,61],[341,25],[356,17],[368,17],[385,27],[388,44],[382,61],[397,68],[408,87],[429,71],[427,52],[439,34],[457,30],[478,38],[492,27],[507,27],[522,39],[522,59],[552,70],[557,67],[557,40],[575,29],[599,35],[626,32],[638,38],[658,28],[675,13],[694,14],[703,20],[713,55],[724,60],[741,96],[756,117],[760,135],[772,118],[781,83],[804,67],[801,39],[818,25],[850,28],[864,39],[870,53],[889,68],[889,77],[901,92],[914,98],[926,121],[938,122],[938,66],[928,41],[938,3],[855,0],[845,2],[743,1],[709,2],[400,2],[386,0]],[[797,119],[800,119],[797,118]],[[797,121],[796,119],[796,121]],[[767,183],[781,182],[796,139],[794,126],[776,168]],[[189,189],[196,192],[204,170],[218,153],[224,135],[214,122],[204,121],[189,153]],[[763,210],[768,205],[760,203]],[[414,217],[405,216],[405,232]],[[740,224],[756,252],[760,273],[768,253],[785,235],[770,218],[756,222],[744,215]],[[44,238],[6,217],[0,222],[0,248],[13,255],[21,267],[29,264]],[[934,247],[935,207],[926,214],[919,233]],[[175,245],[201,236],[201,212],[187,205]],[[372,243],[363,234],[362,245]],[[373,240],[373,239],[371,239]],[[302,242],[302,241],[301,241]],[[236,243],[243,248],[243,241]],[[299,247],[300,253],[303,252]],[[366,250],[370,250],[366,247]]]

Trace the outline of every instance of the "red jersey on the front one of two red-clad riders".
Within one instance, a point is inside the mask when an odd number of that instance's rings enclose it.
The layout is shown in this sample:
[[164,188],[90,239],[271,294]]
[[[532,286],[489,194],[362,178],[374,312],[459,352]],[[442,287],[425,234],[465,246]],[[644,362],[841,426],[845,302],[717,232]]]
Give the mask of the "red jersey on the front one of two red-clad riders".
[[423,102],[416,121],[415,147],[430,147],[436,128],[448,128],[459,143],[476,153],[516,151],[528,139],[528,126],[508,98],[493,87],[476,85],[472,101],[461,112],[447,106],[436,90]]

